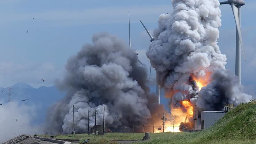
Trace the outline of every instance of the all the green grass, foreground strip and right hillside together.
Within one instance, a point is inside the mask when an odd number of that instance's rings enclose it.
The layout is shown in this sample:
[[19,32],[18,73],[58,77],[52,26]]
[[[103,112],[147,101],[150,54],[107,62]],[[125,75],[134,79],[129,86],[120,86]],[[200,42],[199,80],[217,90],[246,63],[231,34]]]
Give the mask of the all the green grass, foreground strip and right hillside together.
[[[107,133],[105,136],[86,134],[58,135],[63,139],[91,139],[89,143],[115,144],[113,140],[141,140],[144,133]],[[71,137],[68,137],[71,136]],[[256,101],[240,104],[219,119],[212,127],[201,132],[150,133],[152,140],[141,144],[250,144],[256,143]]]

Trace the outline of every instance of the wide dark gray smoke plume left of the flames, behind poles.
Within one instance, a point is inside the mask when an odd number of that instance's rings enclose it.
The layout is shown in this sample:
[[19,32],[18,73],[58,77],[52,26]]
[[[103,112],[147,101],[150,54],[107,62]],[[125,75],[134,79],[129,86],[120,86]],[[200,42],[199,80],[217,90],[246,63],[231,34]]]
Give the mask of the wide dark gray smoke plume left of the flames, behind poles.
[[94,125],[95,109],[97,124],[102,124],[104,106],[107,125],[140,124],[151,117],[157,98],[148,93],[146,69],[137,54],[107,33],[94,35],[92,43],[68,59],[66,75],[58,84],[68,93],[49,109],[46,132],[71,133],[73,105],[76,132],[87,132],[88,118],[90,127]]

